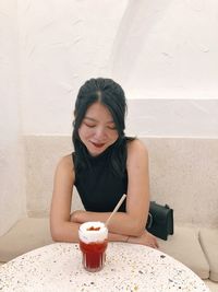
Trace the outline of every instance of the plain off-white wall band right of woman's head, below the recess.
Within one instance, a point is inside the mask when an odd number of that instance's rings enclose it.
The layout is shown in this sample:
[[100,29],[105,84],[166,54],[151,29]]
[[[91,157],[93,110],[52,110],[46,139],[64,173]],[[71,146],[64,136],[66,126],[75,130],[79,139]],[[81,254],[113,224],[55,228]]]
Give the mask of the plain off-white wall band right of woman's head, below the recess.
[[126,133],[218,138],[218,100],[130,100]]

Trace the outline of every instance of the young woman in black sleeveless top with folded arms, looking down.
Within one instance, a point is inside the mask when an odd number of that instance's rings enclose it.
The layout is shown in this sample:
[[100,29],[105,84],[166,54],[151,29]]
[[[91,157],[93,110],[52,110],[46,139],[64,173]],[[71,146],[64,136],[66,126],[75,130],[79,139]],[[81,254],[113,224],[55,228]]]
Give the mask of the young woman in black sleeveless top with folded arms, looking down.
[[[50,212],[51,235],[77,242],[86,221],[106,222],[123,194],[126,200],[109,223],[109,241],[158,247],[145,230],[149,208],[148,154],[138,139],[124,135],[126,103],[111,79],[90,79],[75,102],[74,152],[57,166]],[[71,213],[73,187],[84,210]]]

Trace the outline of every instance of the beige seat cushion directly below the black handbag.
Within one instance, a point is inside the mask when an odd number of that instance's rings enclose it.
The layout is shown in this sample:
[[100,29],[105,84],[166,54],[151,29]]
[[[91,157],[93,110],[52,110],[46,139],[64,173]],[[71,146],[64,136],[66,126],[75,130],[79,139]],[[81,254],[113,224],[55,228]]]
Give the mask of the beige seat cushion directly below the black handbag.
[[160,250],[180,260],[202,279],[208,279],[209,265],[198,242],[198,231],[193,227],[174,227],[168,241],[158,240]]

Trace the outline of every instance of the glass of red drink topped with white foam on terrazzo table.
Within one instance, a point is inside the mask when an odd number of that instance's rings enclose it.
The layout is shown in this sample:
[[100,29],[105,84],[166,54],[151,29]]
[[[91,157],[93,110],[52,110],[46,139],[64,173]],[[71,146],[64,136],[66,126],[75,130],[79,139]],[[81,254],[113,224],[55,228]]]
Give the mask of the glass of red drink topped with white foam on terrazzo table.
[[87,271],[99,271],[106,261],[108,229],[102,222],[86,222],[78,229],[83,267]]

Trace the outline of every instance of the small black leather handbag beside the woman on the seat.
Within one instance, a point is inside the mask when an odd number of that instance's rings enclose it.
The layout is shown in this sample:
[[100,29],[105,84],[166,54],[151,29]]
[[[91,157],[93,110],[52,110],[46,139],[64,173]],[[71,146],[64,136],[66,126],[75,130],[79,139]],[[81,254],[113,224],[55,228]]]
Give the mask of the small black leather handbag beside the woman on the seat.
[[173,210],[168,205],[150,201],[146,230],[167,241],[168,235],[173,234]]

